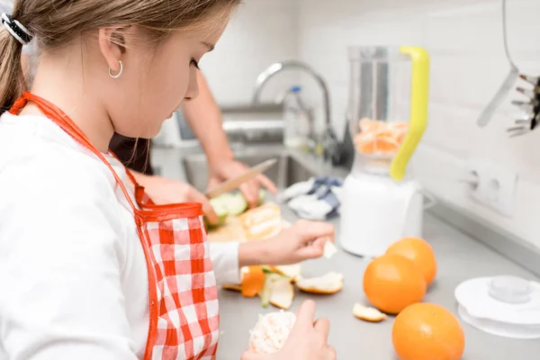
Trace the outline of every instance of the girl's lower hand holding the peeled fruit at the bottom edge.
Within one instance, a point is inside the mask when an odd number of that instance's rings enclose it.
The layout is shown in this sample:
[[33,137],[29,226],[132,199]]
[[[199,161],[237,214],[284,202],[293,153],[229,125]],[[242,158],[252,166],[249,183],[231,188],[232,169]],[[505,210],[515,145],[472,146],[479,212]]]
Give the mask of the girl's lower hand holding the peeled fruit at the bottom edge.
[[336,350],[328,345],[329,320],[313,321],[315,303],[302,303],[284,347],[272,355],[244,353],[241,360],[336,360]]

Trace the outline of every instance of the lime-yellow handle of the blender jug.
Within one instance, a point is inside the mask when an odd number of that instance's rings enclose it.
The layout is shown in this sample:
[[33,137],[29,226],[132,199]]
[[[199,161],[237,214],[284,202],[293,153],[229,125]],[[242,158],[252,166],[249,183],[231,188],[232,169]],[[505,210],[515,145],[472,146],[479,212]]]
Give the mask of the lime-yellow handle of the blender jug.
[[410,85],[409,130],[398,149],[390,167],[392,179],[398,181],[405,176],[410,157],[428,124],[429,55],[426,49],[402,46],[400,52],[412,59],[412,80]]

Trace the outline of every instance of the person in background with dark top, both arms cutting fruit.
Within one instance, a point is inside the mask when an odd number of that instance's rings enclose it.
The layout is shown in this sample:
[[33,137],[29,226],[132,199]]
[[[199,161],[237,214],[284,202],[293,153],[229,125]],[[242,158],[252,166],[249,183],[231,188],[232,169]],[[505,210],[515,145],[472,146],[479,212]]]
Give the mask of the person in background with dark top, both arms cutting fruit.
[[[199,95],[183,106],[184,117],[199,139],[208,158],[210,180],[208,188],[245,172],[248,167],[234,158],[229,147],[227,134],[223,130],[221,112],[211,95],[211,90],[197,69]],[[157,203],[202,202],[202,209],[211,222],[218,220],[208,199],[191,184],[154,175],[151,166],[151,142],[149,139],[130,139],[115,133],[109,147],[121,162],[133,170],[139,184],[145,186],[148,195]],[[258,175],[254,180],[240,186],[250,206],[258,200],[258,187],[263,185],[271,193],[276,193],[275,184],[265,175]]]

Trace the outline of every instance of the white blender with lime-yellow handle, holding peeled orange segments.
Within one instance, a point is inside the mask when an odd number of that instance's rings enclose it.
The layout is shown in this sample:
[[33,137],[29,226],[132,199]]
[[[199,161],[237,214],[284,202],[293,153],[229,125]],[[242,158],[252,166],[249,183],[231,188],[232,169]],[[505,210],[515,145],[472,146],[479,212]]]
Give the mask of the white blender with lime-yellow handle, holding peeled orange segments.
[[422,236],[419,184],[407,173],[428,121],[429,56],[418,47],[353,47],[348,132],[354,162],[340,194],[340,243],[362,257]]

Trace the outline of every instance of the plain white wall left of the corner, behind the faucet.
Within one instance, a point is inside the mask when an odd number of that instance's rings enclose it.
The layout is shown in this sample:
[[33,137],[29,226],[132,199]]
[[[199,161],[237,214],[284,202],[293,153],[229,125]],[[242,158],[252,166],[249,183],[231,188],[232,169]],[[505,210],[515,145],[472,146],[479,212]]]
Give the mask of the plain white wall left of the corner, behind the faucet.
[[[261,71],[298,56],[297,19],[295,0],[246,0],[239,6],[216,49],[201,61],[218,103],[249,102]],[[287,76],[273,79],[263,100],[274,100],[285,84]]]

